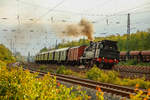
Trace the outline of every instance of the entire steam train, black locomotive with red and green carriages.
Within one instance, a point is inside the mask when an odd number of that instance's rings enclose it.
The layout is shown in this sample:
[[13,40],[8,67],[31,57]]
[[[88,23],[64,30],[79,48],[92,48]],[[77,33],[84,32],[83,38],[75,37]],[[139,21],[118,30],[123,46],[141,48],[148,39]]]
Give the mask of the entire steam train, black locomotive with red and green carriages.
[[96,64],[101,69],[111,69],[114,64],[119,62],[119,55],[116,41],[102,40],[91,41],[89,46],[83,45],[42,52],[36,55],[35,62],[39,64],[85,65],[86,67],[92,67]]

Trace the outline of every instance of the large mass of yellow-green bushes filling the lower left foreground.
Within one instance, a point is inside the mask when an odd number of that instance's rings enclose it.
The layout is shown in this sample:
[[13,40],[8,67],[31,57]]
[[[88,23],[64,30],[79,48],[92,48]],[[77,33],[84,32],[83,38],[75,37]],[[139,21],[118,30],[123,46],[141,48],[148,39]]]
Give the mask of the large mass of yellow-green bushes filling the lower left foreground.
[[82,100],[88,96],[56,82],[49,74],[37,78],[22,68],[0,69],[0,100]]

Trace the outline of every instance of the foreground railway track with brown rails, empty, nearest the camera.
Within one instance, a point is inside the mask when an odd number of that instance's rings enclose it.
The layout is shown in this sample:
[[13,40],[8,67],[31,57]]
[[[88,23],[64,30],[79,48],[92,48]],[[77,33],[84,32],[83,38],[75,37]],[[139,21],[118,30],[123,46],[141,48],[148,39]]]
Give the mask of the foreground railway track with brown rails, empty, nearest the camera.
[[[26,69],[26,68],[24,68]],[[34,73],[37,72],[33,69],[28,69],[30,72]],[[47,72],[38,71],[40,76],[44,76]],[[122,97],[129,98],[130,94],[135,94],[135,90],[130,87],[119,86],[114,84],[96,82],[88,79],[81,79],[76,77],[71,77],[68,75],[61,75],[61,74],[51,74],[52,76],[56,76],[56,79],[59,81],[69,82],[76,85],[81,85],[87,88],[96,89],[97,87],[101,88],[103,92],[116,94]],[[147,91],[142,90],[144,94],[147,94]]]

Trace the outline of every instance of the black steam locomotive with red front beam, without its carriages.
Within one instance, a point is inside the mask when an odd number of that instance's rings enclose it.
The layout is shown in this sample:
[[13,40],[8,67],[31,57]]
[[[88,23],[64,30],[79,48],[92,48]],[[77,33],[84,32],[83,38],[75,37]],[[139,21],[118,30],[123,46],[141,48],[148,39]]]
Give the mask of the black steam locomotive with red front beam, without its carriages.
[[90,42],[81,59],[85,65],[96,64],[100,68],[111,68],[119,62],[117,42],[111,40]]

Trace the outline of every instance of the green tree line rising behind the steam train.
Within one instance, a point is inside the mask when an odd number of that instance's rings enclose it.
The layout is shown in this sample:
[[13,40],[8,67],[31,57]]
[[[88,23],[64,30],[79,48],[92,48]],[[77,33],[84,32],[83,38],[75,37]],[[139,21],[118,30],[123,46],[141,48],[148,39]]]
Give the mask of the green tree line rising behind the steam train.
[[[101,40],[113,40],[117,41],[117,45],[120,51],[135,51],[135,50],[150,50],[150,29],[146,31],[137,31],[135,33],[124,35],[110,35],[106,37],[95,37],[94,42]],[[80,39],[78,41],[59,43],[57,48],[74,47],[80,45],[89,45],[89,40]],[[53,48],[55,49],[55,48]],[[48,51],[45,47],[40,52]]]

